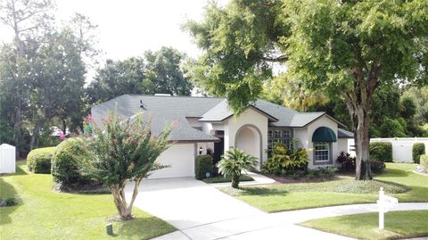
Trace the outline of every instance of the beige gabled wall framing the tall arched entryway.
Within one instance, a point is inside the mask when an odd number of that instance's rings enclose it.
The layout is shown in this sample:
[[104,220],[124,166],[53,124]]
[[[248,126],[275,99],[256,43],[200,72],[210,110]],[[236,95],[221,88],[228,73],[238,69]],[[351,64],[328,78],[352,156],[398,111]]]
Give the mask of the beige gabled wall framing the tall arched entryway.
[[261,160],[259,156],[255,157],[262,162],[268,160],[268,154],[265,151],[268,149],[268,118],[265,115],[248,108],[238,118],[233,117],[225,121],[225,151],[235,148],[236,134],[240,128],[254,126],[261,133]]

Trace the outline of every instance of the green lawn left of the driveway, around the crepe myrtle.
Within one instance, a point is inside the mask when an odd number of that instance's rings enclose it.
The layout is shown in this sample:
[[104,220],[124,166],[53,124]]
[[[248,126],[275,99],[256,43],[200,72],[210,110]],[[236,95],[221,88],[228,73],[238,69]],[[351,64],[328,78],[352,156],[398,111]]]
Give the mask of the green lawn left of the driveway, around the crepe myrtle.
[[19,163],[13,175],[0,177],[0,196],[18,194],[20,203],[0,208],[0,239],[150,239],[175,230],[165,221],[133,209],[136,219],[114,222],[114,236],[105,234],[106,219],[116,214],[111,194],[65,194],[51,189],[51,175],[31,174]]

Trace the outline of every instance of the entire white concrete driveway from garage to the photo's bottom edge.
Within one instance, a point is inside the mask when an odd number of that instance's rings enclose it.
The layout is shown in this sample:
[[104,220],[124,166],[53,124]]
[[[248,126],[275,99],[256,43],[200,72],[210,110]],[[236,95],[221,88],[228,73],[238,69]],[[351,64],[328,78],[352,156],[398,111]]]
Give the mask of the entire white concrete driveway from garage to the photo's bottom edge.
[[[132,193],[133,184],[127,186]],[[157,239],[350,239],[293,225],[288,216],[268,214],[194,178],[144,180],[135,206],[168,221],[178,231]],[[293,237],[292,237],[293,238]]]

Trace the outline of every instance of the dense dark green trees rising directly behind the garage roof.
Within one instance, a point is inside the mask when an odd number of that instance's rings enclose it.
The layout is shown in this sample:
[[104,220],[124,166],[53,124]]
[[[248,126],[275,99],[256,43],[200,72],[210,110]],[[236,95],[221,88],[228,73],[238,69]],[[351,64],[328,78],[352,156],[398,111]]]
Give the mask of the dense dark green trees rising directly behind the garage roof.
[[177,50],[162,47],[146,52],[144,58],[108,60],[86,89],[88,102],[103,103],[125,94],[190,95],[192,85],[180,68],[184,58]]

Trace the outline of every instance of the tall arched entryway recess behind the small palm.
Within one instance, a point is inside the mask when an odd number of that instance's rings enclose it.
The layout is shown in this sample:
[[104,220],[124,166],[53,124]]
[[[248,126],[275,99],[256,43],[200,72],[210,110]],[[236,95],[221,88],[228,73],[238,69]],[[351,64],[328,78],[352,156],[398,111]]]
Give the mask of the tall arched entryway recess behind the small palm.
[[235,135],[235,148],[258,158],[259,163],[261,163],[263,151],[259,128],[252,124],[243,125],[239,128]]

